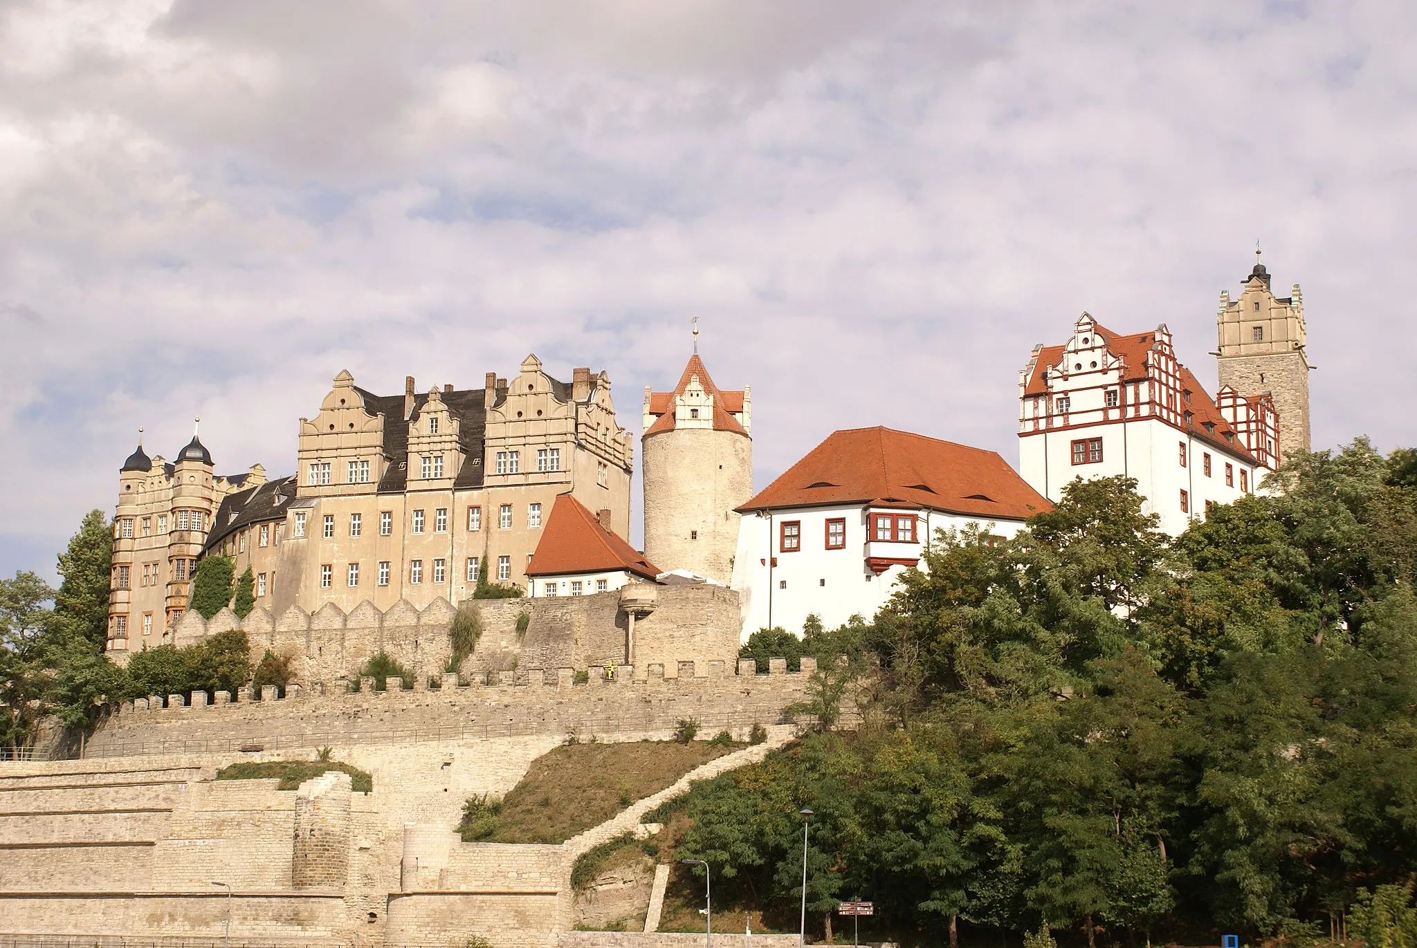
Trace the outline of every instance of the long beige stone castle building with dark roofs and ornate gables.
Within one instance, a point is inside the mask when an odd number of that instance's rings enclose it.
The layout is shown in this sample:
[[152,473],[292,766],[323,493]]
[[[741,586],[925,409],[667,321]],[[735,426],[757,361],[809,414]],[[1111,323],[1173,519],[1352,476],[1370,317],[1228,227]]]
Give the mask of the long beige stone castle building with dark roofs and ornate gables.
[[[561,495],[629,533],[633,444],[616,424],[609,378],[575,368],[563,383],[536,356],[510,381],[489,373],[482,388],[425,394],[408,378],[402,395],[374,395],[341,371],[320,411],[300,419],[292,478],[266,482],[259,468],[214,478],[196,438],[169,473],[145,463],[139,449],[120,478],[115,589],[147,575],[136,564],[160,560],[162,595],[154,587],[137,599],[142,611],[115,597],[116,652],[163,641],[186,608],[193,565],[210,553],[231,555],[238,575],[249,567],[256,604],[273,614],[401,599],[422,608],[470,598],[483,572],[526,588]],[[146,635],[133,638],[137,615]]]

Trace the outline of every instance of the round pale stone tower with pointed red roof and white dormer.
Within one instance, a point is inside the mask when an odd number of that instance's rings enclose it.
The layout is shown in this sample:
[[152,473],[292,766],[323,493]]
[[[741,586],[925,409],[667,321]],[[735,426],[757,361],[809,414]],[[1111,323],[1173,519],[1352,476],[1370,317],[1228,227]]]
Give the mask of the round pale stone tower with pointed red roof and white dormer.
[[752,497],[752,390],[723,391],[694,351],[673,391],[645,387],[645,558],[728,584],[735,507]]

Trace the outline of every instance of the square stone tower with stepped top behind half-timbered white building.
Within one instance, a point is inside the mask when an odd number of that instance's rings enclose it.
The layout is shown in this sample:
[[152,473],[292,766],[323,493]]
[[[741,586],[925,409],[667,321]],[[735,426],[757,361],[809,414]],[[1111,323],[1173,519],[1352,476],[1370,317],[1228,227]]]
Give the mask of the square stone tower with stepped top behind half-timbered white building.
[[[1258,258],[1260,251],[1255,251]],[[1240,299],[1220,290],[1220,385],[1246,397],[1270,394],[1280,414],[1280,463],[1289,451],[1309,451],[1309,360],[1304,350],[1304,298],[1270,290],[1270,271],[1255,259]]]

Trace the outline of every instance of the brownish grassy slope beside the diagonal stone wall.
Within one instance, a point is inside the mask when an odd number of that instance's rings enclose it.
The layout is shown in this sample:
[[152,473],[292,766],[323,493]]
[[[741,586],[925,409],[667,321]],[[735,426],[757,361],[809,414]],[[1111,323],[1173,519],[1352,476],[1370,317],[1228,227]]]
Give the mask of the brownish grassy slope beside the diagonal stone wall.
[[496,843],[561,843],[741,745],[570,744],[531,762],[502,801]]

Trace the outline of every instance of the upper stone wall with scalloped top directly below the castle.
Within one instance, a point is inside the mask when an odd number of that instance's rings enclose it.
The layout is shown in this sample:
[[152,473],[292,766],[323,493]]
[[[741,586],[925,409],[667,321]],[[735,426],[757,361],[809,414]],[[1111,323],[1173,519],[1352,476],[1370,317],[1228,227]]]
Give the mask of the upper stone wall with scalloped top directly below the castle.
[[[635,601],[622,604],[628,597]],[[631,638],[640,677],[656,666],[665,677],[676,677],[682,660],[731,666],[738,655],[738,594],[723,587],[632,584],[582,597],[469,599],[461,605],[475,609],[482,623],[476,648],[458,669],[470,679],[486,680],[510,670],[526,677],[537,669],[629,665]],[[380,612],[371,602],[361,602],[346,614],[326,604],[313,615],[298,606],[279,615],[256,608],[245,619],[228,606],[210,622],[187,611],[177,622],[174,641],[190,645],[241,629],[255,658],[264,649],[290,658],[293,677],[305,686],[353,680],[381,650],[415,676],[429,677],[444,675],[449,665],[453,615],[456,608],[441,597],[424,609],[398,601]]]

